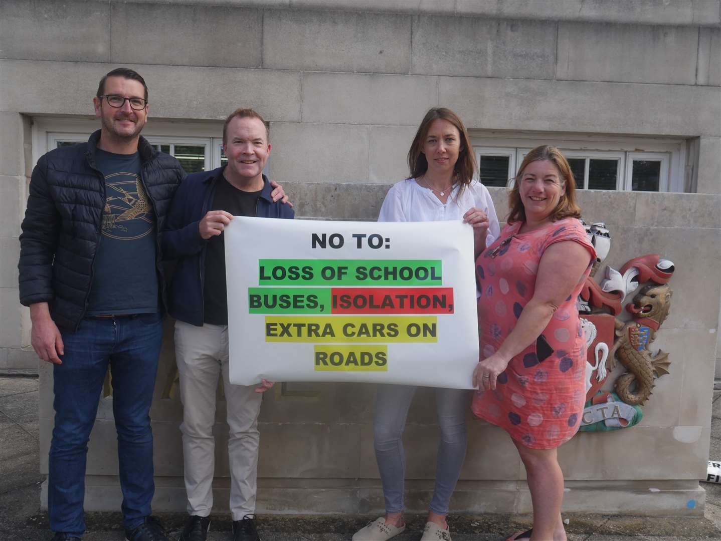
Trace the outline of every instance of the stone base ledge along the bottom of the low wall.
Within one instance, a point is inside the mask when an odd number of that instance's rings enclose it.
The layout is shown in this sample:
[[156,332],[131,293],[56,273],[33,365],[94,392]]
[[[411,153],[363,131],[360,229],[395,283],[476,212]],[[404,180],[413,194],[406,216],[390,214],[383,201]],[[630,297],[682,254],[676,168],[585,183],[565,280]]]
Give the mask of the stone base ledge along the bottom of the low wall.
[[[297,480],[289,480],[291,483]],[[454,515],[479,514],[474,520],[487,517],[499,506],[514,504],[516,513],[526,514],[531,512],[531,497],[525,483],[518,483],[513,488],[497,488],[493,481],[487,483],[474,483],[471,488],[465,486],[456,488],[451,507]],[[677,483],[676,486],[673,483]],[[670,486],[660,488],[658,492],[650,492],[648,489],[639,489],[634,481],[627,483],[578,483],[579,486],[572,488],[573,497],[567,496],[564,501],[563,512],[567,513],[588,513],[598,509],[608,509],[608,514],[616,516],[614,527],[619,533],[619,521],[622,517],[684,517],[685,519],[703,517],[705,502],[705,491],[697,481],[679,480],[674,481]],[[695,483],[695,486],[694,486]],[[40,493],[40,504],[42,509],[48,507],[47,481],[43,483]],[[658,484],[658,483],[656,483]],[[376,514],[384,509],[384,500],[380,486],[373,488],[359,487],[308,487],[298,488],[267,488],[264,479],[258,479],[258,508],[260,514],[269,515],[293,515],[293,514]],[[410,513],[422,513],[425,511],[428,501],[433,493],[433,483],[428,481],[422,488],[409,488],[406,491],[407,510]],[[218,512],[223,512],[225,502],[229,498],[229,488],[218,487],[213,489],[214,501],[224,502]],[[115,511],[120,509],[123,500],[120,493],[120,486],[117,478],[102,476],[94,478],[87,476],[85,483],[85,510],[86,511]],[[689,502],[694,501],[693,506]],[[154,511],[182,512],[185,511],[186,493],[182,477],[172,479],[165,478],[163,483],[157,483],[155,497],[153,499]],[[302,509],[299,509],[302,507]],[[608,517],[607,517],[608,518]],[[270,519],[270,521],[278,520]],[[632,519],[627,519],[632,520]],[[661,522],[658,522],[661,521]],[[678,535],[678,532],[686,529],[684,521],[668,518],[663,520],[656,518],[653,521],[647,519],[636,519],[633,522],[645,522],[647,532],[655,529],[656,532],[663,531],[662,535]],[[654,528],[652,522],[656,523]],[[663,522],[663,524],[662,524]],[[265,523],[265,522],[264,522]],[[267,523],[266,523],[267,524]],[[704,529],[710,528],[709,532],[715,532],[710,522]],[[598,532],[598,531],[597,531]],[[600,532],[598,532],[600,533]],[[706,533],[704,531],[704,533]],[[656,533],[655,535],[658,535]],[[695,537],[697,538],[697,537]]]

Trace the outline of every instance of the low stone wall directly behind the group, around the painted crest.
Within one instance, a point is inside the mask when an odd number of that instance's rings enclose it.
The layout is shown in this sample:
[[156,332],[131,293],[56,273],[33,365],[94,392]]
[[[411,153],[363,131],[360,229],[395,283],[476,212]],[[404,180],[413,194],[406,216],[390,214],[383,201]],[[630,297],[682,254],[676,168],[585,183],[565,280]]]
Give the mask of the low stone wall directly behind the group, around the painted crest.
[[[374,219],[386,184],[288,184],[299,218]],[[492,189],[499,215],[503,189]],[[342,200],[341,205],[335,205]],[[676,263],[671,315],[653,348],[671,358],[671,374],[656,382],[638,426],[612,433],[582,433],[559,450],[567,479],[564,509],[617,514],[685,515],[702,512],[709,448],[711,388],[718,310],[708,298],[721,287],[721,203],[718,195],[584,192],[586,220],[605,220],[614,238],[607,264],[659,253]],[[332,212],[329,212],[332,210]],[[40,367],[41,388],[50,389],[51,367]],[[617,370],[618,372],[618,370]],[[151,410],[157,488],[154,508],[184,509],[180,399],[169,395],[174,377],[172,322],[161,358]],[[258,506],[261,512],[348,512],[382,510],[373,454],[375,385],[341,383],[276,385],[264,395],[260,415]],[[221,397],[220,392],[218,397]],[[224,402],[216,419],[216,501],[226,505],[228,460]],[[404,436],[407,445],[408,506],[423,511],[430,500],[435,463],[433,390],[420,389]],[[52,394],[40,404],[41,469],[53,426]],[[91,436],[87,509],[120,505],[112,398],[103,398]],[[510,458],[509,458],[510,457]],[[452,509],[469,512],[530,511],[525,470],[500,429],[469,415],[469,450]],[[658,491],[656,491],[658,489]],[[689,502],[692,502],[689,504]],[[689,508],[689,505],[693,506]]]

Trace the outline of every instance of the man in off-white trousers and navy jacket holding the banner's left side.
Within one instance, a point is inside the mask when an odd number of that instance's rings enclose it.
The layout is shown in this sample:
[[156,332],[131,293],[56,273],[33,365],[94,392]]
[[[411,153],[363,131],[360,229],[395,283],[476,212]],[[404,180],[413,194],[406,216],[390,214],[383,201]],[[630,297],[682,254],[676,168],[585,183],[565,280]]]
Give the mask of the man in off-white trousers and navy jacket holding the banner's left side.
[[[169,295],[176,318],[175,356],[180,373],[187,510],[182,541],[205,541],[213,507],[213,424],[218,377],[223,377],[229,426],[230,510],[234,541],[260,541],[255,525],[258,413],[273,385],[229,381],[228,303],[223,230],[234,216],[293,218],[287,197],[274,202],[262,174],[270,155],[265,122],[252,109],[226,119],[228,164],[187,176],[177,190],[163,235],[164,254],[177,259]],[[259,241],[262,239],[259,239]]]

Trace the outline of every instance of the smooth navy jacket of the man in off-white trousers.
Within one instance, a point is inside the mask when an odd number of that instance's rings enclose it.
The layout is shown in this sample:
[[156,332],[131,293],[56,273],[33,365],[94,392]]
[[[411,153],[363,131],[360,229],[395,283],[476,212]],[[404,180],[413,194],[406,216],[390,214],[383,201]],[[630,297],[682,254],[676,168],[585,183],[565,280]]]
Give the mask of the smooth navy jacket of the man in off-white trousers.
[[[175,193],[163,233],[164,257],[177,259],[168,311],[174,318],[196,326],[203,325],[205,247],[208,244],[200,236],[200,220],[211,210],[216,183],[224,167],[187,176]],[[255,215],[259,218],[293,218],[295,213],[291,205],[273,202],[272,191],[270,182],[263,175]]]

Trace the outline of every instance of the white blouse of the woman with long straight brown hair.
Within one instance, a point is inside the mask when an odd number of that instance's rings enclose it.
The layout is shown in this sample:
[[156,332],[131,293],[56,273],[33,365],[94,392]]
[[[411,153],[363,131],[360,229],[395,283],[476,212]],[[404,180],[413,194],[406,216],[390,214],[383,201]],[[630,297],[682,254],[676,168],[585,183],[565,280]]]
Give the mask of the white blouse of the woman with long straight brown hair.
[[473,181],[458,197],[456,184],[445,204],[435,197],[430,188],[420,186],[415,179],[407,179],[394,184],[383,200],[379,222],[439,222],[443,220],[462,220],[466,211],[473,207],[488,215],[488,235],[486,246],[490,246],[500,235],[498,218],[493,207],[491,195],[480,182]]

